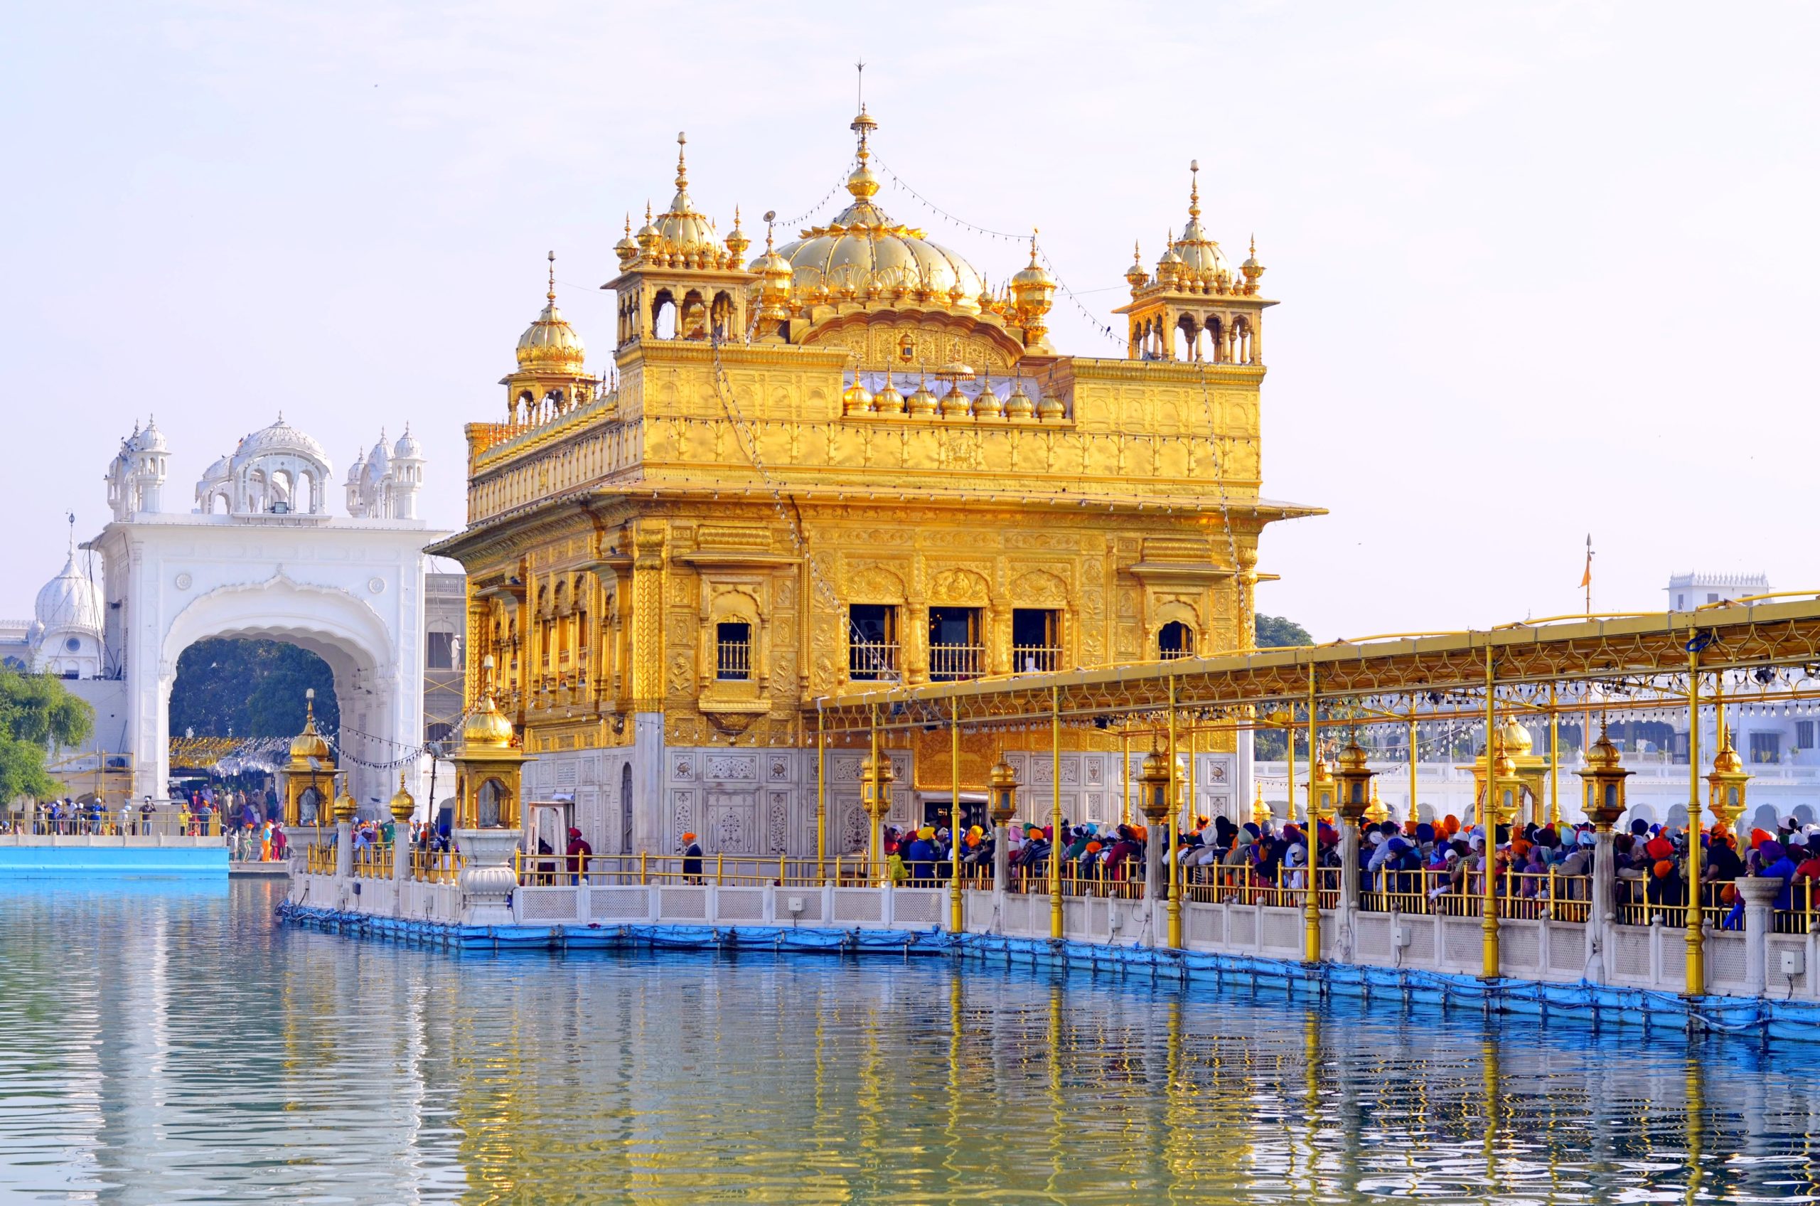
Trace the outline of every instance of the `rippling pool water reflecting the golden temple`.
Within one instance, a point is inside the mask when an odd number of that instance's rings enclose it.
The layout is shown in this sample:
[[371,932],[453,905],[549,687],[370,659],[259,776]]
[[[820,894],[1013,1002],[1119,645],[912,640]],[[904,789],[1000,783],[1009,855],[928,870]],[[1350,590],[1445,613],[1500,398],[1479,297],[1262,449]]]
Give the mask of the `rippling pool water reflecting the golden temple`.
[[1815,1201],[1815,1055],[945,962],[448,956],[0,891],[0,1199]]

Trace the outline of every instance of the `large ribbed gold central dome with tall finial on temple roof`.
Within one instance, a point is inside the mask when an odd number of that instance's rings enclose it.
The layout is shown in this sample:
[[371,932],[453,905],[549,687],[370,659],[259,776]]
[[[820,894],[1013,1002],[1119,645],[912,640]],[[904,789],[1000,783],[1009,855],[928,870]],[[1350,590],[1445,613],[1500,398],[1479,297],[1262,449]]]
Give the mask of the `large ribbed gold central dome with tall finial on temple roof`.
[[826,301],[885,299],[917,302],[956,313],[979,313],[986,282],[961,255],[930,242],[921,230],[895,222],[874,197],[879,179],[866,166],[866,135],[877,122],[864,113],[854,118],[859,131],[859,168],[846,179],[854,204],[826,226],[803,231],[803,239],[777,253],[790,264],[790,288],[797,297]]

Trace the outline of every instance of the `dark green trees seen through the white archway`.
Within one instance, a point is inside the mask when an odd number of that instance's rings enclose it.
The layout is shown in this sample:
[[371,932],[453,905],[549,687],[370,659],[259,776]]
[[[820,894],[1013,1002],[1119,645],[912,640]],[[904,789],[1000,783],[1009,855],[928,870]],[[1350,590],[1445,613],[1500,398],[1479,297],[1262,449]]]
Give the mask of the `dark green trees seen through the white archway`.
[[304,727],[304,692],[317,692],[317,727],[340,725],[329,663],[282,641],[197,641],[177,658],[171,736],[289,738]]

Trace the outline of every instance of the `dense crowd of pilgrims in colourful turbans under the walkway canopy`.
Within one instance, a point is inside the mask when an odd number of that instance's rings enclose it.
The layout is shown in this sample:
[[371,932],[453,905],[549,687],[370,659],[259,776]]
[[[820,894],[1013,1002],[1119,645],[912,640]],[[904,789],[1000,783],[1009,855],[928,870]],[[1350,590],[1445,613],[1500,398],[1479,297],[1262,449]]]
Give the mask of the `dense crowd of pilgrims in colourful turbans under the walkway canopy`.
[[[1143,880],[1145,843],[1150,833],[1138,823],[1063,823],[1063,876],[1068,880]],[[1006,827],[1008,867],[1014,880],[1046,880],[1056,849],[1048,825],[1012,823]],[[1158,840],[1168,842],[1167,834]],[[1167,845],[1165,845],[1167,849]],[[1774,833],[1754,829],[1747,842],[1722,825],[1700,833],[1702,904],[1736,905],[1727,924],[1742,924],[1742,904],[1733,887],[1738,876],[1776,876],[1782,880],[1778,909],[1805,907],[1804,884],[1820,880],[1820,825],[1802,827],[1785,818]],[[963,880],[990,880],[996,838],[979,825],[961,834],[959,865]],[[894,884],[930,885],[950,878],[954,845],[950,831],[935,825],[885,831],[885,856]],[[1585,900],[1598,838],[1591,823],[1580,825],[1498,825],[1492,891],[1525,898]],[[1249,822],[1238,825],[1225,816],[1198,818],[1181,834],[1176,858],[1183,882],[1225,887],[1307,887],[1307,827],[1296,823]],[[1340,867],[1340,831],[1321,822],[1316,827],[1316,867]],[[1483,893],[1485,831],[1463,827],[1458,816],[1440,822],[1361,822],[1361,893]],[[1614,880],[1622,898],[1649,905],[1687,904],[1687,831],[1631,822],[1613,834]],[[1514,873],[1514,874],[1507,874]],[[1039,887],[1032,884],[1032,887]]]

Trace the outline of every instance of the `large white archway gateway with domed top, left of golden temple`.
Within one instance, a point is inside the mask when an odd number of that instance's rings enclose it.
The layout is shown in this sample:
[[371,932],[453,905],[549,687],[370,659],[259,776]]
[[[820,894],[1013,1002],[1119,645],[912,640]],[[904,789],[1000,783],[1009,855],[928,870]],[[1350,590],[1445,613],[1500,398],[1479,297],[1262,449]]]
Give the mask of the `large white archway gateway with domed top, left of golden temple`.
[[[397,452],[420,466],[408,441]],[[151,506],[116,505],[91,541],[104,565],[104,645],[127,683],[133,794],[167,792],[178,656],[209,638],[262,638],[328,661],[340,765],[360,813],[377,816],[399,787],[388,763],[422,743],[422,548],[440,534],[413,517],[402,490],[359,517],[329,516],[328,459],[282,419],[222,461],[237,475],[231,506],[215,505],[211,492],[226,490],[217,465],[197,488],[195,512],[160,514],[157,492],[142,492]],[[422,769],[404,769],[424,800]]]

